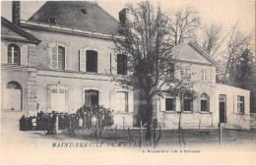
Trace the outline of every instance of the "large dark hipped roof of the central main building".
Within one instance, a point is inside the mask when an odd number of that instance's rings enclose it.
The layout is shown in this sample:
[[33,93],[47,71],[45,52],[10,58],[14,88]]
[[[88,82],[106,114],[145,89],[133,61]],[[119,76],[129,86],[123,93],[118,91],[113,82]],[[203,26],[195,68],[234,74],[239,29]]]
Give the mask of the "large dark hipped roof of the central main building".
[[119,22],[94,2],[49,1],[29,19],[32,22],[76,27],[107,34],[118,34]]

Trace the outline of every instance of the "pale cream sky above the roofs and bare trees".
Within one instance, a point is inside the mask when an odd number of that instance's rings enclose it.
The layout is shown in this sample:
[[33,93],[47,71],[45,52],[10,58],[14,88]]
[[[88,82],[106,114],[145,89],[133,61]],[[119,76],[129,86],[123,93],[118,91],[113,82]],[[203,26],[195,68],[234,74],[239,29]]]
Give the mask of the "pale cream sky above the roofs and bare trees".
[[[111,16],[118,20],[118,13],[127,3],[135,3],[128,0],[100,0],[94,1]],[[199,12],[202,23],[216,23],[224,29],[237,24],[241,31],[253,36],[252,49],[255,50],[255,0],[152,0],[153,4],[160,6],[165,12],[172,12],[180,7],[192,7]],[[45,1],[22,1],[21,19],[28,20]],[[11,21],[11,1],[1,0],[1,16]]]

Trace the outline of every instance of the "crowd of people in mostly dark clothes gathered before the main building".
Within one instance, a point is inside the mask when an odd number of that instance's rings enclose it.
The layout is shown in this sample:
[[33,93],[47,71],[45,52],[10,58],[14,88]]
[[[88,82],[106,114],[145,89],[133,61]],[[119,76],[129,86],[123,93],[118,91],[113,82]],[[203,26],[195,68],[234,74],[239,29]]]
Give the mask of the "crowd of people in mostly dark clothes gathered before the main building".
[[73,114],[40,111],[36,116],[23,115],[20,119],[20,130],[46,131],[46,135],[54,135],[58,128],[58,130],[68,130],[71,135],[74,135],[75,130],[109,129],[114,124],[113,118],[114,111],[103,106],[84,105]]

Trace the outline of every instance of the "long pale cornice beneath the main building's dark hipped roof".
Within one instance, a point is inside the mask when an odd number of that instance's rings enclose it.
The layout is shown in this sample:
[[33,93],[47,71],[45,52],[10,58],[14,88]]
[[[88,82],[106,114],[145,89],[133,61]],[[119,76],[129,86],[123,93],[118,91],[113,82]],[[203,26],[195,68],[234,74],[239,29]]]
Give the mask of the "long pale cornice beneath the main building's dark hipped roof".
[[100,33],[100,32],[96,32],[96,31],[89,31],[89,30],[84,30],[84,29],[80,29],[80,28],[75,28],[75,27],[63,27],[63,26],[57,26],[57,25],[37,23],[37,22],[32,22],[32,21],[23,21],[22,20],[20,24],[21,24],[21,27],[50,30],[50,31],[54,31],[54,32],[77,34],[77,35],[97,37],[97,38],[102,38],[102,39],[121,38],[120,36],[117,36],[115,34],[106,34],[106,33]]

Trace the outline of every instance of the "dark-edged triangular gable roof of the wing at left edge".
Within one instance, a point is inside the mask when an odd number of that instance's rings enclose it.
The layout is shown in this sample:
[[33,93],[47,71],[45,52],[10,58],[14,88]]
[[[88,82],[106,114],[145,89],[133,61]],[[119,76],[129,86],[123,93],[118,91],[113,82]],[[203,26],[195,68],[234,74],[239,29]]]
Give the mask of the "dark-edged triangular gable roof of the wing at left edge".
[[16,26],[4,17],[1,17],[1,27],[2,39],[19,40],[34,44],[38,44],[40,42],[40,40],[34,37],[31,33],[27,32],[21,27]]

